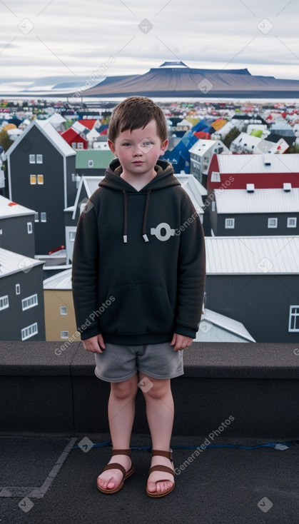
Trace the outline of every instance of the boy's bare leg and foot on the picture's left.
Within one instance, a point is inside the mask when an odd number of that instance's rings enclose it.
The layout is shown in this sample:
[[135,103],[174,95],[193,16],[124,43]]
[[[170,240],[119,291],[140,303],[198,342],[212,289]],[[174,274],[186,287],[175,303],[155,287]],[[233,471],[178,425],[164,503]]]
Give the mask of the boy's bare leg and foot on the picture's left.
[[[108,401],[108,419],[113,449],[130,448],[131,431],[135,414],[135,397],[138,390],[137,374],[128,381],[111,383]],[[126,455],[113,455],[111,462],[123,465],[128,471],[131,458]],[[99,475],[99,484],[103,489],[113,489],[121,483],[120,470],[107,470]]]

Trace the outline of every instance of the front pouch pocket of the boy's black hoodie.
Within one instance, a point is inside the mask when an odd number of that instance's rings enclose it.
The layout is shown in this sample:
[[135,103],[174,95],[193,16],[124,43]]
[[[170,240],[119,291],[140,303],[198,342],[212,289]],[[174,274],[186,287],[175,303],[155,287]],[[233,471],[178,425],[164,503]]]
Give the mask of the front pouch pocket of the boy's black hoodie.
[[115,300],[100,317],[103,332],[138,335],[173,328],[174,313],[163,286],[118,286],[110,288],[108,296]]

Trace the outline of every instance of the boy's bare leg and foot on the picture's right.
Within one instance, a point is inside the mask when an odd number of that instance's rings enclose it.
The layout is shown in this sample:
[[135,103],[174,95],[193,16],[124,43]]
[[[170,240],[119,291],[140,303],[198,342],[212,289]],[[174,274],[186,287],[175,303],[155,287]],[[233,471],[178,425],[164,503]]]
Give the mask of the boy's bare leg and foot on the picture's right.
[[[153,386],[148,391],[143,391],[146,399],[146,415],[151,431],[152,448],[155,450],[168,451],[171,443],[171,433],[173,429],[173,395],[171,393],[171,381],[169,378],[160,380],[139,374],[139,379],[148,378]],[[142,389],[142,388],[141,388]],[[151,465],[166,465],[171,468],[171,461],[168,458],[155,455],[152,457]],[[161,482],[163,480],[163,482]],[[160,482],[159,482],[160,481]],[[153,471],[148,477],[148,491],[162,493],[173,485],[173,476],[163,471]]]

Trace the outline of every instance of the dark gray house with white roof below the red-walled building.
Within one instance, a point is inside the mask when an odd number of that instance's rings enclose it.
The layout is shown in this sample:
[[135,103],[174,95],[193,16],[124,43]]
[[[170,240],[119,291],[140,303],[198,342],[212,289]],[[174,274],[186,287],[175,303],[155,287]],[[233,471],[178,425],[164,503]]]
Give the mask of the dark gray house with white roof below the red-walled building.
[[266,236],[299,234],[299,188],[216,189],[210,204],[215,236]]

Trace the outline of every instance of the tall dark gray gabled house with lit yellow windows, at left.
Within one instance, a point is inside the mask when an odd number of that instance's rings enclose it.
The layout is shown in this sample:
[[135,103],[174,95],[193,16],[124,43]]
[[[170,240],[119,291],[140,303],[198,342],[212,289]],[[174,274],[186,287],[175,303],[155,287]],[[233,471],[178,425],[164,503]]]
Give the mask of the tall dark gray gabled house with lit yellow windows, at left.
[[76,151],[51,123],[34,120],[6,158],[5,196],[36,211],[36,254],[63,246],[64,209],[76,198]]

